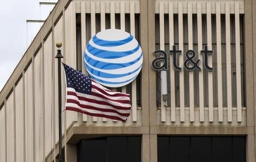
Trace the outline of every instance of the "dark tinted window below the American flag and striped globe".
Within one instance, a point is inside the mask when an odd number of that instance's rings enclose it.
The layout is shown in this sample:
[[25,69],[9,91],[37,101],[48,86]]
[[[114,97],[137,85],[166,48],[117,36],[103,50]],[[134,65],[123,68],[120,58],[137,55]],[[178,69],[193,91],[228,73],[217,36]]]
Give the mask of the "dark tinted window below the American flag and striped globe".
[[79,162],[140,162],[140,137],[104,137],[81,140],[77,145]]

